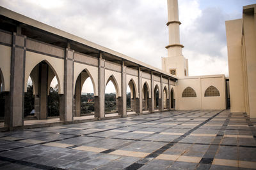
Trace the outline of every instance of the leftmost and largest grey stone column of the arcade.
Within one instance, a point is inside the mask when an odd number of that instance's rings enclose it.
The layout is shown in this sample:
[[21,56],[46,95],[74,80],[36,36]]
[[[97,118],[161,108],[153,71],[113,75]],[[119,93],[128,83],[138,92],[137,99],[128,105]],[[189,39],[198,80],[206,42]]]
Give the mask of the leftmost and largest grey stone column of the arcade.
[[10,92],[6,95],[4,125],[12,127],[23,125],[24,117],[24,73],[26,60],[26,36],[13,32]]

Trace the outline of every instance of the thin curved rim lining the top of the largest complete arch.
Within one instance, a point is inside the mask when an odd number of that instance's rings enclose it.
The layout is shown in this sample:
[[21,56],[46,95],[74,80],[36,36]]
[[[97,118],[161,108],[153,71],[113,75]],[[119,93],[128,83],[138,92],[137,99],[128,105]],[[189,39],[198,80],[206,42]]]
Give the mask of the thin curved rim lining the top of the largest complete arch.
[[[58,81],[58,88],[59,88],[58,93],[60,94],[60,92],[61,92],[62,89],[61,89],[60,78],[59,78],[58,73],[56,72],[56,70],[54,69],[54,67],[52,66],[52,64],[51,64],[47,59],[40,60],[40,62],[46,62],[46,63],[48,64],[48,66],[51,67],[51,69],[52,69],[52,71],[53,71],[53,73],[54,73],[54,75],[56,76],[56,79],[57,79],[57,81]],[[38,64],[40,64],[40,62],[37,62],[36,64],[33,65],[33,67],[30,67],[31,69],[26,70],[26,73],[27,73],[27,74],[25,75],[25,78],[26,78],[25,87],[26,87],[26,85],[28,84],[29,75],[32,73],[32,71],[35,69],[35,67],[38,66]],[[32,78],[32,77],[31,77],[31,80],[32,80],[32,79],[34,79],[34,83],[35,83],[35,78]],[[35,90],[35,88],[33,88],[33,90]],[[26,92],[27,89],[25,88],[24,91]]]

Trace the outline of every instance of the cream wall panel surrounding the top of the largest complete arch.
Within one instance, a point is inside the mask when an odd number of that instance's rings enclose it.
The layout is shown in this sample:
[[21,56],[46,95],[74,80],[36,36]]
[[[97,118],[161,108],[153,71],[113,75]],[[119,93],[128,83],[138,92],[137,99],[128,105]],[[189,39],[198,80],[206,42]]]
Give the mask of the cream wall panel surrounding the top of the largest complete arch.
[[[26,67],[25,67],[25,80],[24,87],[28,84],[28,78],[33,68],[40,62],[45,61],[54,72],[59,85],[59,94],[64,93],[64,60],[55,57],[50,57],[40,53],[26,52]],[[26,90],[26,88],[24,89]]]

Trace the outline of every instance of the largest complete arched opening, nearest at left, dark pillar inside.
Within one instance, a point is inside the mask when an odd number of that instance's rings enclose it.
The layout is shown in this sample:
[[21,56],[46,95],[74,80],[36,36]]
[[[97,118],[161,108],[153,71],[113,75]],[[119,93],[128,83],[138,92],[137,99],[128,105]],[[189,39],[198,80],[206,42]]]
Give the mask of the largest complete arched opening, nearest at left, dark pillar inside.
[[[34,110],[24,106],[24,118],[35,116],[37,119],[47,117],[60,117],[59,104],[59,78],[53,67],[43,60],[36,64],[29,74],[27,88],[25,89],[24,103],[30,102],[34,97]],[[33,96],[33,97],[32,97]],[[32,97],[32,99],[31,99]],[[33,102],[31,102],[33,105]]]

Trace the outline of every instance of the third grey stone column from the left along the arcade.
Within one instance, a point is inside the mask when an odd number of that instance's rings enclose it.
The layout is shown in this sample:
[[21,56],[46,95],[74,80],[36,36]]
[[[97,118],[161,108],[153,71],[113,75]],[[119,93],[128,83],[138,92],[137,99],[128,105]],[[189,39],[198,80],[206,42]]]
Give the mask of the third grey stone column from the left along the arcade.
[[102,53],[99,53],[99,72],[98,72],[98,96],[94,96],[95,115],[97,118],[105,117],[105,60]]

